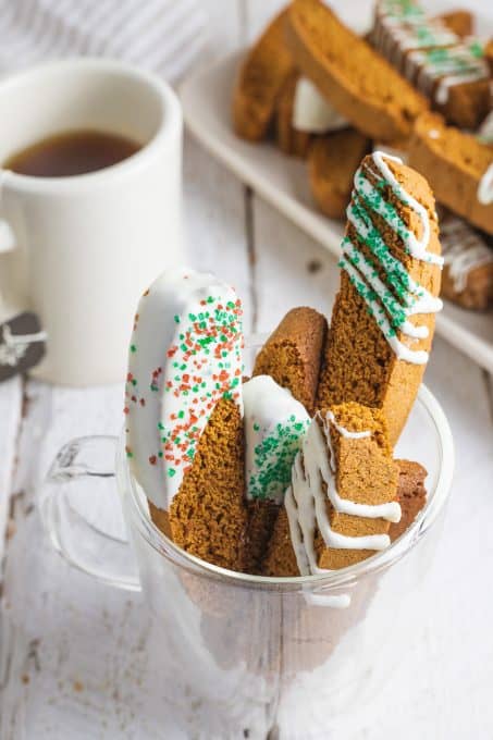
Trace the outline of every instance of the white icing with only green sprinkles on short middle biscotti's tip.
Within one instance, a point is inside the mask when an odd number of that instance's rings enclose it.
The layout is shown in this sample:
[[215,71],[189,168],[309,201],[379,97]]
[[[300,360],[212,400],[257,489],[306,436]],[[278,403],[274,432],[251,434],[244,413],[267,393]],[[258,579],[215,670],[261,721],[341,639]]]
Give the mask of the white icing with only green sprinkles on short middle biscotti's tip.
[[246,496],[281,504],[310,417],[270,375],[244,383],[243,402]]

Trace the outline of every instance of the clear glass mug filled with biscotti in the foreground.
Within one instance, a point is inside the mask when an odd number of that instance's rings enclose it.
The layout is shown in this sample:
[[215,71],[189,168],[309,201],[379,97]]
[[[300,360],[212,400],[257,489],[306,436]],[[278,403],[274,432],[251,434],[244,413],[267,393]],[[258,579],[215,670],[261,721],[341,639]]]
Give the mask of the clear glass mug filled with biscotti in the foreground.
[[[260,345],[249,343],[250,367]],[[356,707],[365,716],[426,613],[420,588],[454,468],[447,420],[426,386],[396,457],[427,468],[426,507],[387,550],[321,576],[237,574],[182,551],[150,520],[124,434],[65,445],[48,474],[41,516],[73,566],[144,592],[153,615],[151,659],[185,737],[328,740],[347,730]],[[132,548],[107,491],[114,477]]]

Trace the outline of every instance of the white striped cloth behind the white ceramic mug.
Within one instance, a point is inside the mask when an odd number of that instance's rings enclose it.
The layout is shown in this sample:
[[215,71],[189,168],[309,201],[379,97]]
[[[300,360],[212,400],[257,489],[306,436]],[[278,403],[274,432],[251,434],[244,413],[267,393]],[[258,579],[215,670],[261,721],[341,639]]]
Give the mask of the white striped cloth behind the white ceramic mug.
[[178,79],[206,41],[197,0],[0,0],[0,71],[108,57]]

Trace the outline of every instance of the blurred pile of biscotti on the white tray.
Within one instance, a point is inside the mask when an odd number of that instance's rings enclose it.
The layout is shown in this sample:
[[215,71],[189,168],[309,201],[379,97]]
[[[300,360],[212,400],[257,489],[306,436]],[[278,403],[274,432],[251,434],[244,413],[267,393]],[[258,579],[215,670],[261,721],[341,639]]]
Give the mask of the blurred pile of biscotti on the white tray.
[[429,17],[414,0],[375,0],[362,38],[330,3],[293,0],[245,58],[233,118],[252,140],[245,131],[261,101],[255,140],[273,135],[283,152],[306,158],[313,200],[333,219],[345,218],[361,157],[409,158],[468,234],[458,242],[454,229],[445,275],[456,279],[444,280],[444,296],[484,309],[493,303],[493,42],[474,38],[473,24],[467,11]]

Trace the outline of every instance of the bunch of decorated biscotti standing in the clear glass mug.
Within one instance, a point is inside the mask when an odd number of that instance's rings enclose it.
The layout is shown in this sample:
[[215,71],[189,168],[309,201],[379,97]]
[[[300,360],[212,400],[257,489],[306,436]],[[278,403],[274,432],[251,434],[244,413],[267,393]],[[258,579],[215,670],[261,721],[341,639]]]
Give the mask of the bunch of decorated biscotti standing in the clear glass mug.
[[156,526],[187,553],[275,577],[353,565],[426,503],[395,460],[441,308],[427,182],[366,156],[355,178],[331,326],[289,311],[244,377],[242,303],[169,270],[140,299],[126,384],[127,456]]

